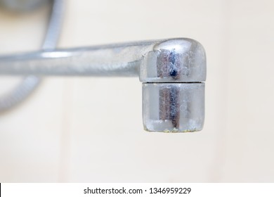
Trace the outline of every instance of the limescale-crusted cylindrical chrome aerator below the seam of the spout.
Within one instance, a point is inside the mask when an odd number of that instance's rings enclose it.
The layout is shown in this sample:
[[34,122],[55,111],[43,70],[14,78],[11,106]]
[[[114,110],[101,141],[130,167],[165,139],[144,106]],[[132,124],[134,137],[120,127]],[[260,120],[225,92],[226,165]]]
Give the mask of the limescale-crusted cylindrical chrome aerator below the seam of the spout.
[[204,83],[143,83],[143,125],[150,132],[202,130]]

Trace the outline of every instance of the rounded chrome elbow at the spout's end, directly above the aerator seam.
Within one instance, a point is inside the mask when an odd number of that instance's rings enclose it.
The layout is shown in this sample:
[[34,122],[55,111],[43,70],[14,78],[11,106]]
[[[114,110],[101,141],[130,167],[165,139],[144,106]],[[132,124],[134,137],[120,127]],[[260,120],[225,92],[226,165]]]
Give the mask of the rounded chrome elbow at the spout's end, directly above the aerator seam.
[[169,39],[155,44],[152,51],[145,54],[140,80],[204,82],[206,71],[206,56],[199,42],[193,39]]

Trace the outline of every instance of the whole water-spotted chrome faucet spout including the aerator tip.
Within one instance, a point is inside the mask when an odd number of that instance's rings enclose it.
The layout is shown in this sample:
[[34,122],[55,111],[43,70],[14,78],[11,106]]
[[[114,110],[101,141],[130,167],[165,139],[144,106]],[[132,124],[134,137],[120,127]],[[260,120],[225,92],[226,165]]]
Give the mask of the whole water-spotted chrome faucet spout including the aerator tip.
[[195,132],[204,125],[206,56],[203,46],[193,39],[0,56],[0,75],[139,77],[146,131]]

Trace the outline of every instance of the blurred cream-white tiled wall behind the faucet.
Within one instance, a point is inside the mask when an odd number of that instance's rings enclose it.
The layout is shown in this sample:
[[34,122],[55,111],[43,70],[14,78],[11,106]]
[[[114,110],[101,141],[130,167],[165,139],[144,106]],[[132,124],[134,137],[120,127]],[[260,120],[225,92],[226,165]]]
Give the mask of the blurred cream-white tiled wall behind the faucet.
[[[1,10],[0,53],[39,49],[47,13]],[[274,1],[70,0],[59,47],[169,37],[207,51],[202,132],[144,132],[137,78],[48,77],[0,114],[0,182],[274,182]]]

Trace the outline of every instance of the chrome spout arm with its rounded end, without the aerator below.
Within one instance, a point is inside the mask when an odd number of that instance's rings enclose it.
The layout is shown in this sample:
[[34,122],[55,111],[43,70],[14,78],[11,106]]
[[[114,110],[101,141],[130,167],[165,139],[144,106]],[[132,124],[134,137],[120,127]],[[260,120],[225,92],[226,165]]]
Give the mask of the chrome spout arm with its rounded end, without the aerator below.
[[[186,47],[185,43],[191,46]],[[157,49],[161,44],[181,48],[177,51],[169,49],[169,46]],[[166,56],[170,60],[166,60]],[[170,64],[170,61],[174,63]],[[192,39],[163,39],[0,56],[0,75],[140,75],[142,82],[202,82],[206,76],[205,67],[204,49]],[[171,69],[172,73],[169,72]]]

